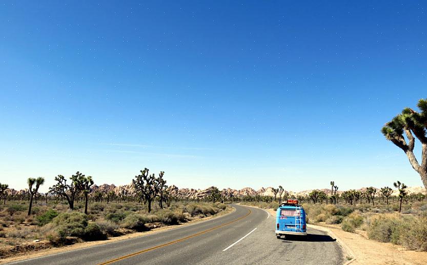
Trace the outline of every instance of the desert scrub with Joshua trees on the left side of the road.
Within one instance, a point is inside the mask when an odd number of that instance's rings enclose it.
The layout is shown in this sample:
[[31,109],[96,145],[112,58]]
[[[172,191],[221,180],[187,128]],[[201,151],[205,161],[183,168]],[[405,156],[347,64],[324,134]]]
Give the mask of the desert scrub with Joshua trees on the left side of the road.
[[134,179],[136,192],[126,196],[92,192],[92,177],[80,172],[69,179],[55,177],[48,194],[38,193],[41,177],[29,178],[23,194],[10,195],[8,186],[0,184],[0,258],[179,225],[227,209],[220,193],[203,200],[173,197],[164,172],[158,177],[148,169],[140,173]]

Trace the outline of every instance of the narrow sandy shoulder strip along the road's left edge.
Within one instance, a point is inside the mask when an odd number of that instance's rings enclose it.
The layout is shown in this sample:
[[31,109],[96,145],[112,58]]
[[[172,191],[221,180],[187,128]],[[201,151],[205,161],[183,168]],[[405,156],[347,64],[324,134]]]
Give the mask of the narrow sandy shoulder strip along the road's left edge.
[[145,235],[149,235],[149,234],[152,234],[152,233],[157,233],[157,232],[160,232],[160,231],[171,230],[171,229],[175,229],[175,228],[178,228],[178,227],[189,226],[189,225],[193,225],[194,223],[197,223],[197,222],[200,222],[200,221],[206,221],[206,220],[209,220],[209,219],[217,218],[219,216],[230,214],[230,213],[232,213],[235,210],[236,210],[235,208],[228,207],[225,211],[221,211],[217,215],[208,216],[208,217],[200,218],[200,219],[195,219],[195,220],[183,223],[182,225],[160,227],[160,228],[155,228],[155,229],[152,229],[152,230],[146,231],[146,232],[135,232],[135,233],[126,234],[126,235],[123,235],[123,236],[110,237],[107,240],[75,243],[75,244],[72,244],[70,246],[65,246],[65,247],[62,247],[62,248],[52,248],[52,249],[46,249],[46,250],[38,250],[38,251],[33,252],[33,253],[31,253],[31,252],[19,253],[19,254],[16,254],[14,256],[7,257],[5,259],[0,259],[0,264],[4,264],[6,262],[12,262],[12,261],[18,261],[18,260],[28,259],[28,258],[35,258],[35,257],[40,257],[40,256],[46,256],[46,255],[56,254],[56,253],[60,253],[60,252],[66,252],[66,251],[75,250],[75,249],[90,248],[90,247],[93,247],[93,246],[96,246],[96,245],[99,245],[99,244],[106,244],[106,243],[116,242],[116,241],[120,241],[120,240],[126,240],[126,239],[129,239],[129,238],[134,238],[134,237],[139,237],[139,236],[145,236]]

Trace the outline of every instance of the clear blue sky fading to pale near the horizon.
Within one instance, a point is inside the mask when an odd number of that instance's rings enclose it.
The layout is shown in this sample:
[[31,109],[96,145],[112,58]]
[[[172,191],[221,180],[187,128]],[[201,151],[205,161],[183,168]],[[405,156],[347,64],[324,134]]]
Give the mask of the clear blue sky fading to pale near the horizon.
[[422,185],[380,129],[427,97],[425,1],[88,2],[0,4],[0,182]]

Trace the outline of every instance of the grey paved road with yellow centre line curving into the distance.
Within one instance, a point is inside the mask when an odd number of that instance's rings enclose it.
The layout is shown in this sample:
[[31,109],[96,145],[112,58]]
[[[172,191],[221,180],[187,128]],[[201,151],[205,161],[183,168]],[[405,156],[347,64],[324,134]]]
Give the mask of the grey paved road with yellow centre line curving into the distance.
[[306,238],[277,239],[274,234],[273,216],[261,209],[233,206],[236,211],[229,215],[194,225],[15,263],[32,265],[344,263],[339,244],[323,232],[309,229]]

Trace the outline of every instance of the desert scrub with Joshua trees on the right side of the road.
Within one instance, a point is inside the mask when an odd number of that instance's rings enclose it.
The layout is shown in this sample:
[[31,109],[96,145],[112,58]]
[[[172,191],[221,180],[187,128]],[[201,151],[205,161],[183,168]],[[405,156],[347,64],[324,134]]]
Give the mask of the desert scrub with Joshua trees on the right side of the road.
[[[329,192],[314,190],[297,196],[307,213],[307,222],[317,225],[339,226],[347,232],[358,232],[369,239],[399,244],[406,249],[427,251],[427,196],[408,194],[400,181],[394,183],[398,194],[392,196],[389,187],[350,190],[337,193],[333,185]],[[262,209],[277,209],[283,197],[244,197],[243,205]]]

